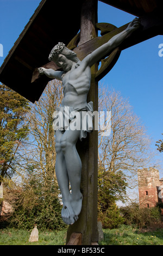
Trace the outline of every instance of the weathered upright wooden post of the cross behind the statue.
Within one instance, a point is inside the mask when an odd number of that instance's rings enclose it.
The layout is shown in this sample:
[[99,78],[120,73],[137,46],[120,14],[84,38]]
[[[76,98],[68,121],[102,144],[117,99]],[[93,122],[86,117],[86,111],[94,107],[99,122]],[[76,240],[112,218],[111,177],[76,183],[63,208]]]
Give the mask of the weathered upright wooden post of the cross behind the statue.
[[[97,0],[84,0],[81,14],[79,44],[97,36]],[[78,44],[78,45],[79,45]],[[92,80],[87,102],[93,101],[94,111],[98,111],[98,82],[95,75],[98,64],[91,68]],[[98,131],[88,134],[83,142],[77,143],[77,150],[82,160],[81,192],[83,194],[82,211],[79,219],[67,230],[67,241],[72,233],[82,233],[82,245],[91,245],[98,241],[97,231],[97,178],[98,178]]]

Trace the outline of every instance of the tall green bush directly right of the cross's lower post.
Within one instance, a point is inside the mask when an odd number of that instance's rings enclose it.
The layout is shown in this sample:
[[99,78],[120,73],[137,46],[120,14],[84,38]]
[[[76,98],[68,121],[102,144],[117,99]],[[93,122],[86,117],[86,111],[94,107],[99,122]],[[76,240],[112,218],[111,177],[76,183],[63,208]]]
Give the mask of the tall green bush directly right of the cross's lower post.
[[122,172],[98,170],[98,220],[103,228],[117,228],[123,218],[117,208],[116,201],[126,194],[126,180]]

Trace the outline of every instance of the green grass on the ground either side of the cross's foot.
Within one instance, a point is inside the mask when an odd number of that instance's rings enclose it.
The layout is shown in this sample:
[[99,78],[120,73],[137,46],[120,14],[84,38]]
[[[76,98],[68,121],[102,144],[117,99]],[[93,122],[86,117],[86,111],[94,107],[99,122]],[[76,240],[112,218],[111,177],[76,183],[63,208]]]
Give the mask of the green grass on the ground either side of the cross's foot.
[[[163,245],[163,228],[140,231],[122,225],[118,229],[104,229],[104,240],[99,245]],[[30,231],[14,228],[0,229],[0,245],[65,245],[66,230],[39,231],[39,241],[29,242]]]

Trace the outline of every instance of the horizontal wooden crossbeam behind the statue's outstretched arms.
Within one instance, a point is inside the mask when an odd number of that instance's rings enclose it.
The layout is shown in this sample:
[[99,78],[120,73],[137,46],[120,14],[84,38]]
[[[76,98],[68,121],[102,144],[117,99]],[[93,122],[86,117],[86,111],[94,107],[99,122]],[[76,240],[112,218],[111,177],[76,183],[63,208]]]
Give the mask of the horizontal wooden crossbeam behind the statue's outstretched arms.
[[[151,14],[147,14],[141,17],[140,20],[141,28],[138,31],[135,31],[133,34],[129,35],[128,38],[124,40],[124,42],[120,46],[120,51],[139,44],[140,42],[148,40],[149,38],[152,38],[156,35],[163,34],[163,19],[160,11],[154,11]],[[76,52],[78,58],[82,60],[87,56],[87,54],[95,51],[98,47],[105,44],[105,42],[108,42],[114,35],[121,33],[124,29],[127,28],[128,24],[129,23],[123,25],[120,28],[115,27],[115,29],[113,29],[109,33],[106,33],[103,36],[98,36],[97,38],[93,38],[92,40],[85,42],[85,44],[75,47],[73,51]],[[79,35],[77,36],[77,39],[78,38]],[[43,65],[43,67],[58,70],[58,66],[54,62],[49,62]],[[108,68],[108,70],[110,69]],[[35,69],[32,76],[32,82],[39,82],[40,79],[41,76],[37,69]]]

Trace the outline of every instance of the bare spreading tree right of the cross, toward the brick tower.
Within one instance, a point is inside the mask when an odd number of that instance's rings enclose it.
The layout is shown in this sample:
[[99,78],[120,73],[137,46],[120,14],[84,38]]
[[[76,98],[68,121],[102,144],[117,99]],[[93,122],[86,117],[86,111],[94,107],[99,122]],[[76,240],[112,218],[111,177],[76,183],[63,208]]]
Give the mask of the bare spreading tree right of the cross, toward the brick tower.
[[[123,173],[128,186],[137,184],[137,170],[154,165],[151,139],[145,126],[133,112],[128,99],[120,92],[109,91],[108,87],[99,90],[99,111],[110,111],[111,133],[102,136],[99,130],[98,162],[105,174]],[[105,123],[109,121],[105,119]]]

